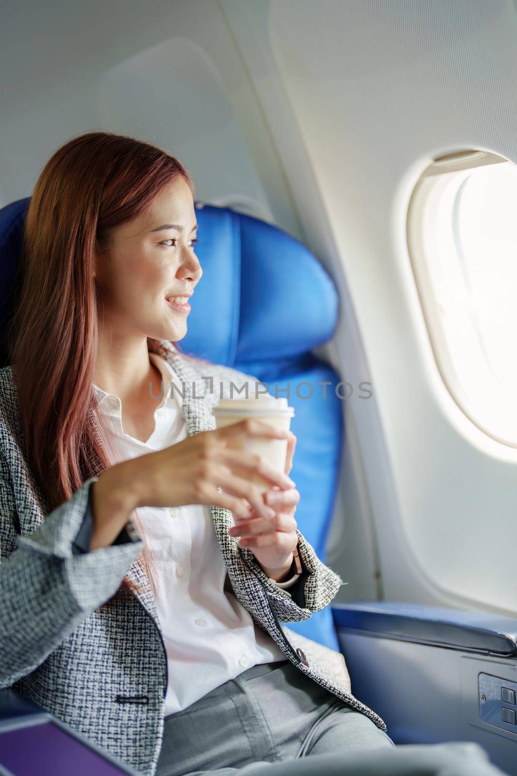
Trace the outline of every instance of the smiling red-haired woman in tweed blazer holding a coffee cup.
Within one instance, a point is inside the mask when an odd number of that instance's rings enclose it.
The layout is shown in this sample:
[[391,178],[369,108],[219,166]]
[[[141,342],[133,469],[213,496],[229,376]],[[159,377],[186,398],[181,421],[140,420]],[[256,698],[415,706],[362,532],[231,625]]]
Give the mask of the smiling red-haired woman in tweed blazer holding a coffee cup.
[[146,774],[391,750],[343,658],[279,625],[342,584],[297,529],[295,438],[286,473],[236,452],[285,433],[215,430],[204,378],[255,379],[173,345],[202,277],[193,192],[102,132],[36,182],[0,370],[0,686]]

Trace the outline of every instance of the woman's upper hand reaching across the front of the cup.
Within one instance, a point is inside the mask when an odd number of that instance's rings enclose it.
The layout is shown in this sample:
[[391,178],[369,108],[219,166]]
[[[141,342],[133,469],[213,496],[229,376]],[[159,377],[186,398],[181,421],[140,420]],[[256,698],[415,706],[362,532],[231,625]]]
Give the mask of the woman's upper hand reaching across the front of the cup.
[[291,489],[295,483],[260,456],[235,449],[240,440],[253,437],[284,439],[289,432],[249,418],[201,431],[163,450],[115,464],[99,477],[99,482],[109,477],[109,488],[102,492],[129,494],[126,503],[132,504],[131,509],[214,504],[231,510],[238,521],[249,517],[251,506],[260,517],[274,518],[276,512],[251,478],[259,475],[279,490]]

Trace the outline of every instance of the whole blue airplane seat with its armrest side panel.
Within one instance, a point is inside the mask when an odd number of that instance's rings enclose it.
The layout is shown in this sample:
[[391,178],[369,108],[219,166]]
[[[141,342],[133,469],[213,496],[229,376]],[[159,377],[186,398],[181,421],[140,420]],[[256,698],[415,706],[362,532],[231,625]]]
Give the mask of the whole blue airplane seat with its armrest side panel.
[[[0,324],[16,304],[28,203],[20,199],[0,210]],[[195,211],[204,276],[179,345],[185,353],[257,377],[295,407],[291,428],[298,446],[291,476],[301,494],[296,520],[325,562],[343,404],[339,375],[313,349],[333,335],[336,288],[310,251],[278,227],[226,207],[195,203]],[[1,345],[4,366],[9,361]],[[473,740],[517,776],[515,618],[399,601],[348,601],[289,628],[343,652],[353,694],[381,715],[395,743]]]

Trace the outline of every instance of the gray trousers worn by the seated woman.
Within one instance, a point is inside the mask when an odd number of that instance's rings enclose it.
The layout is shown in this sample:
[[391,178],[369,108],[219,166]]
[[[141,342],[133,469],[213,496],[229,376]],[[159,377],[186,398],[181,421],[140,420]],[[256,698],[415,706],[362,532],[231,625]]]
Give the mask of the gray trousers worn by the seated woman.
[[157,765],[157,776],[502,773],[475,743],[395,747],[371,719],[289,660],[248,668],[165,717]]

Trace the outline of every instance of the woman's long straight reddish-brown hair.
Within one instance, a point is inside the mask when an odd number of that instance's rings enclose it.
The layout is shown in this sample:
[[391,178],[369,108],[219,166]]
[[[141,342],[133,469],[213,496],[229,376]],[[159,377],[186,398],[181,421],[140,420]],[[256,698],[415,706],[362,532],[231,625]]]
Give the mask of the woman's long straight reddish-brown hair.
[[[178,176],[178,159],[133,137],[89,132],[62,145],[43,167],[26,213],[19,300],[9,326],[26,457],[47,510],[112,466],[109,431],[96,410],[98,352],[95,248],[143,213]],[[160,341],[150,351],[165,355]],[[178,350],[180,349],[174,343]],[[145,533],[132,518],[145,542]],[[151,584],[149,550],[139,556]],[[123,587],[134,589],[126,578]]]

